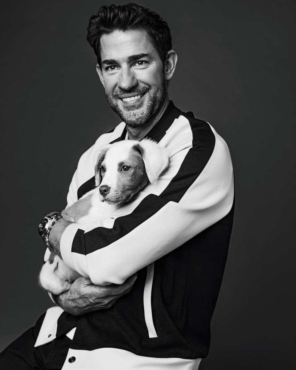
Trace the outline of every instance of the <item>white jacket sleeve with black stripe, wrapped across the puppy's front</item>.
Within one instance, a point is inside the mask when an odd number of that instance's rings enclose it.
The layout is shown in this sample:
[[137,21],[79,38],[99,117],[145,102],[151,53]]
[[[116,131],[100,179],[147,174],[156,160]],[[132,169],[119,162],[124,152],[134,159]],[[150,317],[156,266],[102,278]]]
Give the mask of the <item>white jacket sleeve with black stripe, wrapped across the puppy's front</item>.
[[65,263],[96,285],[121,284],[229,213],[234,197],[231,157],[213,130],[174,153],[155,184],[118,214],[72,224],[61,238]]

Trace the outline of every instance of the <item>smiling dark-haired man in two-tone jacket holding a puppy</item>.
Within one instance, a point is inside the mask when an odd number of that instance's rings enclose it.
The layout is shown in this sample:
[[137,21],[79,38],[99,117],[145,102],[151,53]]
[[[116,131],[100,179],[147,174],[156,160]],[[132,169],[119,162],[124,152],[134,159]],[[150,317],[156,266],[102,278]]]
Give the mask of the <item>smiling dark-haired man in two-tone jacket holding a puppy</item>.
[[53,297],[64,311],[49,309],[3,361],[11,369],[198,369],[233,221],[228,148],[208,123],[169,102],[177,56],[158,14],[101,7],[87,38],[123,122],[81,157],[68,205],[94,186],[101,145],[148,137],[166,146],[169,167],[113,218],[80,225],[50,215],[47,245],[90,279]]

